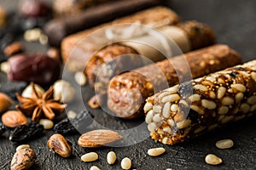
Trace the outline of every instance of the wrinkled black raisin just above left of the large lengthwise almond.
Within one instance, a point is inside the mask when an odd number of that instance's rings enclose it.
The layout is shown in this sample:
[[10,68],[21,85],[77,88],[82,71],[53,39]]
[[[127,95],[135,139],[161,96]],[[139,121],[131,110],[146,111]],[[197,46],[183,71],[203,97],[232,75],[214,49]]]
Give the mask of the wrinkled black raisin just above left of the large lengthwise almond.
[[54,131],[61,134],[79,133],[84,130],[92,122],[93,116],[89,111],[81,111],[74,118],[65,118],[61,122],[55,124]]

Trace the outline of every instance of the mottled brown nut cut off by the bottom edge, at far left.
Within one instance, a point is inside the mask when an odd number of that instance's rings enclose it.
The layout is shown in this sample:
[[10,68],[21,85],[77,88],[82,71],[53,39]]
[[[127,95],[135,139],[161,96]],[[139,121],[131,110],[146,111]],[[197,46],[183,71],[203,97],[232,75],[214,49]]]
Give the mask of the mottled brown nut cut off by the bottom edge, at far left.
[[28,169],[37,159],[36,153],[30,148],[17,150],[11,161],[11,170]]

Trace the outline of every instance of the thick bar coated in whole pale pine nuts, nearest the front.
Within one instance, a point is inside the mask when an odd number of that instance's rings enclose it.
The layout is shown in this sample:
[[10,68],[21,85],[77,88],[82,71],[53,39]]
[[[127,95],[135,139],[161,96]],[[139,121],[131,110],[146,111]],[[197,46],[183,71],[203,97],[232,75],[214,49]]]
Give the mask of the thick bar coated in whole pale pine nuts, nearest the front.
[[147,99],[152,139],[177,144],[256,111],[256,60],[167,88]]

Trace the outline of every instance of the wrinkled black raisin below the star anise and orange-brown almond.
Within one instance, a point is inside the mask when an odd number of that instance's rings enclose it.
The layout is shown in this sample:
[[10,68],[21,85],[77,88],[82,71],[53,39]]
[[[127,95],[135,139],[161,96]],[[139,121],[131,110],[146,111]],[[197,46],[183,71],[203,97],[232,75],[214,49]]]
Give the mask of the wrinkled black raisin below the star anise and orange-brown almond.
[[19,127],[15,127],[10,132],[9,140],[12,142],[20,142],[26,139],[32,139],[32,137],[38,136],[43,133],[44,127],[38,122],[30,122]]

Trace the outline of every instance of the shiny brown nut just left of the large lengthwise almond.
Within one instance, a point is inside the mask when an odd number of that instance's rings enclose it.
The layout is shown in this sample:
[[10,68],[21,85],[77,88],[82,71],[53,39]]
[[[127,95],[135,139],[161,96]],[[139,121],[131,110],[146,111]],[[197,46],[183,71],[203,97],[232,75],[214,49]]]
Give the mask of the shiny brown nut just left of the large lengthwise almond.
[[72,146],[67,143],[67,140],[61,134],[53,134],[47,145],[50,150],[62,157],[69,157],[72,155]]

